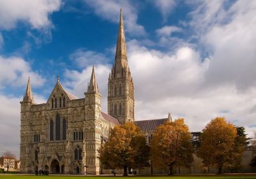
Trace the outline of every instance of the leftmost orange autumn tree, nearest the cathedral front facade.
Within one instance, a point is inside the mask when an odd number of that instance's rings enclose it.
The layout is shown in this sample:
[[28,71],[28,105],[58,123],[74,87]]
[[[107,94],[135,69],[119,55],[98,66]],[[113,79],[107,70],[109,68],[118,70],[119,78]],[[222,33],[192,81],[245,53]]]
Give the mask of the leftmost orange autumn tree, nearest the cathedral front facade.
[[140,128],[134,123],[115,126],[109,140],[99,149],[100,162],[111,169],[149,166],[150,148]]

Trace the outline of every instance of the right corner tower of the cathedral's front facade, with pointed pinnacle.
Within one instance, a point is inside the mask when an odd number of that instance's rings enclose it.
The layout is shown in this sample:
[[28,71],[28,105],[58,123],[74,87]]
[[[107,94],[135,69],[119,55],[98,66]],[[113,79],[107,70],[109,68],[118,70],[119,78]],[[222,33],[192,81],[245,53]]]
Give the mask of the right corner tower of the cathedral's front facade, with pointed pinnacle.
[[[83,125],[83,131],[86,138],[86,143],[84,141],[84,151],[83,151],[83,166],[88,166],[83,168],[83,173],[91,173],[93,175],[100,174],[100,163],[97,156],[99,156],[98,149],[101,144],[100,134],[100,98],[101,95],[99,93],[98,84],[95,77],[94,66],[92,67],[92,75],[90,83],[88,84],[87,92],[84,93],[85,95],[85,109],[86,114],[85,118],[86,121]],[[86,150],[86,146],[87,149]],[[86,162],[87,160],[87,162]]]

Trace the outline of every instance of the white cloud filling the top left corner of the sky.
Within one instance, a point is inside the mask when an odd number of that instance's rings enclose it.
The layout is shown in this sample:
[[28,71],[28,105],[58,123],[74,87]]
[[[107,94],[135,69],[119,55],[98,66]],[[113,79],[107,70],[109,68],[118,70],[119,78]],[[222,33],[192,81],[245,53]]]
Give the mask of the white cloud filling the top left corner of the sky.
[[51,27],[51,13],[60,10],[61,0],[0,0],[0,29],[28,22],[35,29]]

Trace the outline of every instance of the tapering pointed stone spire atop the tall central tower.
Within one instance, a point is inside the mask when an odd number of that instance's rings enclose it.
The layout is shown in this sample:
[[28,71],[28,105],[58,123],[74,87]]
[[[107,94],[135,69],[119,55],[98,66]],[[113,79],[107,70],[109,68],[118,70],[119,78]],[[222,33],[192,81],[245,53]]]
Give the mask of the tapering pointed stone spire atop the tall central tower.
[[125,45],[125,35],[124,35],[124,23],[123,23],[123,13],[122,8],[120,9],[120,20],[118,26],[118,36],[116,42],[116,56],[115,65],[122,65],[122,67],[127,67],[127,52]]

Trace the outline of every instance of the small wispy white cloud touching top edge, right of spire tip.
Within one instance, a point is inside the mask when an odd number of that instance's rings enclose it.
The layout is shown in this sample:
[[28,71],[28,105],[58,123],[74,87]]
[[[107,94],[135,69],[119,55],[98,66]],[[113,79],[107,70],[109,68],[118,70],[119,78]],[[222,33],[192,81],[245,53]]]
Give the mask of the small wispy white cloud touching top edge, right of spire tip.
[[150,0],[151,3],[153,3],[156,8],[159,10],[159,12],[162,14],[164,21],[167,20],[168,15],[172,12],[173,8],[177,5],[177,2],[175,0]]

